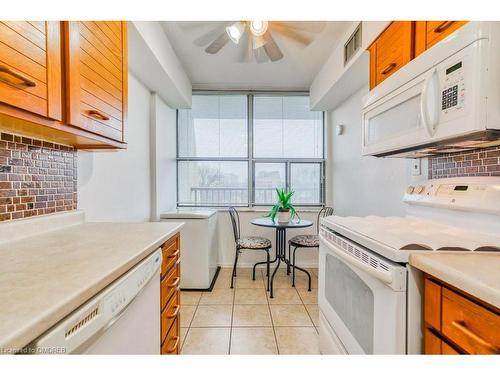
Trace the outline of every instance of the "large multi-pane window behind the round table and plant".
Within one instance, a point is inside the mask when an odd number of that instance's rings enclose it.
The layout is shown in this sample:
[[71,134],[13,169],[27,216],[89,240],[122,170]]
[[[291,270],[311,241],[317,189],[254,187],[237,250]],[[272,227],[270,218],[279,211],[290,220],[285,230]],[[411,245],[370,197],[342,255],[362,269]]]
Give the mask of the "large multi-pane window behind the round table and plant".
[[323,113],[299,94],[195,94],[177,113],[179,206],[323,203]]

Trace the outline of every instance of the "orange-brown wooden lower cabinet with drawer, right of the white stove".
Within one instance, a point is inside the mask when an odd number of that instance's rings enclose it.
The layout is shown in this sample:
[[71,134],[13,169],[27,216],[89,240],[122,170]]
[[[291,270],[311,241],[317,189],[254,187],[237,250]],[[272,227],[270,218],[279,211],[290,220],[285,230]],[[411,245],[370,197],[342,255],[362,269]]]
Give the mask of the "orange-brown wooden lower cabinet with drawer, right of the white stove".
[[500,311],[432,277],[424,281],[426,354],[500,354]]

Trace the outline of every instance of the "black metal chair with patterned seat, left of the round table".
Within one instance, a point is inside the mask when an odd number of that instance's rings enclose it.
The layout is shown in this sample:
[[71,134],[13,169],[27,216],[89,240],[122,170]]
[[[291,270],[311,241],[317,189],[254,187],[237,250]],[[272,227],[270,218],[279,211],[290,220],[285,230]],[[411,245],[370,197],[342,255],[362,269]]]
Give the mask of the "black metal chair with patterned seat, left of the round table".
[[[236,244],[236,254],[234,257],[233,273],[231,275],[231,288],[233,287],[234,278],[236,277],[236,266],[238,265],[238,257],[242,250],[264,250],[267,255],[267,290],[269,291],[269,250],[271,250],[271,241],[265,237],[240,237],[240,216],[234,207],[229,207],[229,216],[233,224],[234,242]],[[255,280],[255,266],[253,268],[253,279]]]

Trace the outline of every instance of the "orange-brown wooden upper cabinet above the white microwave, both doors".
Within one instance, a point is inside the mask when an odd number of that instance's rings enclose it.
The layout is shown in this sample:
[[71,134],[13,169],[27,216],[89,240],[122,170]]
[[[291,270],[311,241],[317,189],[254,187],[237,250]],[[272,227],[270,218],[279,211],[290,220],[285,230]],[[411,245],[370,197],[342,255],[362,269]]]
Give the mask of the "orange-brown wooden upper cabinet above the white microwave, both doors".
[[368,47],[370,90],[465,21],[394,21]]

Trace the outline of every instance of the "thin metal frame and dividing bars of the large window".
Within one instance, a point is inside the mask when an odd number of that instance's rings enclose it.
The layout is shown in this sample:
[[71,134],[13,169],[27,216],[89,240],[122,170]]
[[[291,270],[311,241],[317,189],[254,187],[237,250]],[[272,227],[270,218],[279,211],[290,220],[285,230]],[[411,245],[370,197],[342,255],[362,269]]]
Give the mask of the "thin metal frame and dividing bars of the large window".
[[[179,110],[176,110],[176,192],[177,192],[177,207],[213,207],[227,208],[232,204],[226,205],[200,205],[179,202],[179,162],[183,161],[214,161],[214,162],[231,162],[231,161],[246,161],[248,165],[248,202],[246,205],[237,205],[238,207],[270,207],[269,204],[255,203],[255,163],[281,163],[285,164],[285,186],[290,188],[291,164],[319,164],[320,165],[320,202],[310,204],[297,204],[296,207],[324,207],[325,206],[325,164],[326,164],[326,125],[325,112],[322,111],[322,158],[266,158],[253,156],[253,99],[256,96],[307,96],[308,92],[304,91],[207,91],[193,90],[193,95],[245,95],[247,97],[247,156],[246,157],[181,157],[179,156]],[[234,203],[233,203],[234,204]]]

